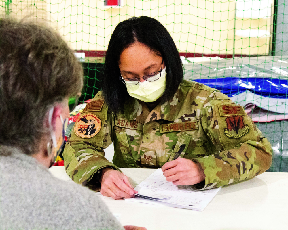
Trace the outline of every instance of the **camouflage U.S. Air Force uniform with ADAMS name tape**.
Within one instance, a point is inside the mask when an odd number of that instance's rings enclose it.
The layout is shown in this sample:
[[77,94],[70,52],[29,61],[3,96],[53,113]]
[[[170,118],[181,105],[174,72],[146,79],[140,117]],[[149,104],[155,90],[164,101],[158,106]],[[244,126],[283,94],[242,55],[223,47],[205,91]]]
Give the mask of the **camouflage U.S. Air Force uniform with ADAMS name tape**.
[[[103,151],[112,141],[115,165]],[[198,189],[254,177],[272,162],[269,141],[241,106],[218,90],[184,80],[170,101],[151,112],[144,102],[128,96],[123,113],[107,113],[100,91],[75,124],[64,165],[73,181],[88,185],[107,166],[160,168],[183,144],[179,157],[198,162],[204,170],[205,183]]]

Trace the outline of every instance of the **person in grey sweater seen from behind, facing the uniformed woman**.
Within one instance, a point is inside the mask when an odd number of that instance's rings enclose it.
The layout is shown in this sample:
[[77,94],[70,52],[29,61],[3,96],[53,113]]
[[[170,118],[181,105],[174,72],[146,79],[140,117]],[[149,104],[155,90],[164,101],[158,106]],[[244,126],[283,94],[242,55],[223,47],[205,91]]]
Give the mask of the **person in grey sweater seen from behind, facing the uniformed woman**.
[[0,18],[0,229],[123,229],[94,192],[48,171],[82,86],[82,66],[56,32]]

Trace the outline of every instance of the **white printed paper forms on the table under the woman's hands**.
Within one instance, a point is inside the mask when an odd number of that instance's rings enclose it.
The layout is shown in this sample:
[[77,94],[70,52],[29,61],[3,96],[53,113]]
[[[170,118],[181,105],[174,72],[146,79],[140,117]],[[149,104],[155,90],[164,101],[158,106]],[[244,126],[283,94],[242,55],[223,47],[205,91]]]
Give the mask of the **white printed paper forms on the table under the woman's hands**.
[[173,185],[159,168],[134,188],[138,191],[134,198],[125,200],[202,211],[220,188],[198,191],[190,185]]

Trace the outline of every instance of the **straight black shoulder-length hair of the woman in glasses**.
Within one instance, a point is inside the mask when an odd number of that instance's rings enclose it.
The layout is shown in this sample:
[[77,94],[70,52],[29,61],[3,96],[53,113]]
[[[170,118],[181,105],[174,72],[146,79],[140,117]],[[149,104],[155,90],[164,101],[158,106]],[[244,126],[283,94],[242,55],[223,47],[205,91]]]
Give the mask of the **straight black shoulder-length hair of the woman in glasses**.
[[119,81],[119,58],[129,45],[140,42],[162,56],[166,64],[166,89],[162,103],[174,96],[183,80],[183,66],[177,47],[166,28],[154,18],[132,17],[120,22],[109,41],[105,57],[102,91],[108,110],[117,114],[123,109],[126,86]]

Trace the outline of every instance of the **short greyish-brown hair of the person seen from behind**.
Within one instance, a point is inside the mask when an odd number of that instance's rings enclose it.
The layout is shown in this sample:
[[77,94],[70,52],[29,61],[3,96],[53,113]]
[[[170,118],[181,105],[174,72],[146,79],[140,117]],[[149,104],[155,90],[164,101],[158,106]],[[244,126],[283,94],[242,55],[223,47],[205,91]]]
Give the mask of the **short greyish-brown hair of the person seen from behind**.
[[49,109],[82,87],[82,65],[60,35],[43,24],[0,18],[0,145],[36,153]]

